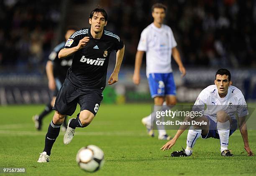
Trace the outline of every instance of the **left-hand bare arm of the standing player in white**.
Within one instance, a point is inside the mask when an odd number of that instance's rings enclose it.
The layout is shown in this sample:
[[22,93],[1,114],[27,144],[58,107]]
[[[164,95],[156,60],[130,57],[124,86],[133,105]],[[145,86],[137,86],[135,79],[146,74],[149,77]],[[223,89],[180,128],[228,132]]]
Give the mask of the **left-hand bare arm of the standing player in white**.
[[140,70],[144,51],[137,51],[135,57],[135,67],[133,73],[133,83],[138,85],[141,82]]

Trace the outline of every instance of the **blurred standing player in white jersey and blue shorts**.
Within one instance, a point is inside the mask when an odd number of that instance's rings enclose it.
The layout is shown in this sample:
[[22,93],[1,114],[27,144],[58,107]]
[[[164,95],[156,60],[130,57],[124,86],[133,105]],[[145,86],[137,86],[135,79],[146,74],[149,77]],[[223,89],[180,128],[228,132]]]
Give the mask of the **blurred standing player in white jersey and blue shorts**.
[[[163,24],[166,15],[166,6],[156,3],[152,6],[151,10],[154,22],[141,32],[141,39],[135,59],[133,82],[136,85],[140,83],[141,62],[143,54],[146,52],[146,74],[155,106],[154,112],[148,117],[143,118],[142,123],[146,126],[148,134],[154,136],[152,124],[156,117],[155,112],[159,110],[159,106],[162,106],[165,100],[167,106],[177,103],[171,57],[173,56],[177,62],[182,77],[186,74],[186,69],[182,64],[179,51],[176,48],[177,43],[174,39],[172,29]],[[158,126],[158,131],[158,139],[169,140],[171,138],[166,134],[163,126]]]

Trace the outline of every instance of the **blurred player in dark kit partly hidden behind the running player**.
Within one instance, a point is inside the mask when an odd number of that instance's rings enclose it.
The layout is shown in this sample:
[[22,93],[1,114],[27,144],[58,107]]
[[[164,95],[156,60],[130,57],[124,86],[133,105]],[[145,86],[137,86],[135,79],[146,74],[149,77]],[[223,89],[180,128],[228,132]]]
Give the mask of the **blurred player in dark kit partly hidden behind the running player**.
[[[61,88],[61,85],[64,83],[67,75],[67,70],[72,65],[72,55],[61,60],[58,58],[58,54],[59,51],[64,47],[69,37],[74,32],[76,32],[76,30],[76,27],[68,27],[65,34],[65,42],[61,42],[59,45],[57,45],[49,55],[49,60],[46,63],[46,74],[48,78],[48,87],[53,92],[53,97],[51,99],[51,102],[46,104],[44,111],[41,112],[40,115],[35,115],[32,117],[33,121],[35,122],[35,127],[38,130],[41,130],[42,128],[42,120],[44,119],[44,117],[53,110],[52,107],[54,106],[56,96],[59,92],[59,89]],[[67,117],[65,118],[62,126],[63,131],[66,131]]]

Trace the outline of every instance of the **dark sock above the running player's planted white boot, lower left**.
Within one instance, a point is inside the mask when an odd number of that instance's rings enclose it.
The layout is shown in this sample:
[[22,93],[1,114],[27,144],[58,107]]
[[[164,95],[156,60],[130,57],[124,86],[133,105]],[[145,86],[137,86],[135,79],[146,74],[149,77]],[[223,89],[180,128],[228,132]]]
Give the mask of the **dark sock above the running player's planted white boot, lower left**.
[[51,154],[51,148],[56,141],[56,138],[59,136],[60,126],[61,124],[54,124],[53,121],[51,121],[48,127],[48,132],[45,136],[44,151],[46,151],[49,156]]

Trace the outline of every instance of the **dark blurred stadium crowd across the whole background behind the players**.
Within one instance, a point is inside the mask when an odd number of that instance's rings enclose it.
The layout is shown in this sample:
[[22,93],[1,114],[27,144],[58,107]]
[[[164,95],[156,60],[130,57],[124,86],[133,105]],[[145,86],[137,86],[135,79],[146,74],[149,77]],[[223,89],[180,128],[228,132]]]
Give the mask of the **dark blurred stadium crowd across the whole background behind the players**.
[[[61,2],[0,0],[1,68],[45,67],[49,52],[60,40],[56,28]],[[107,29],[124,40],[125,66],[133,67],[141,31],[152,22],[154,2],[168,6],[166,24],[172,27],[185,66],[256,67],[255,0],[100,0],[98,4],[109,15]],[[81,26],[87,25],[89,13],[84,12]]]

